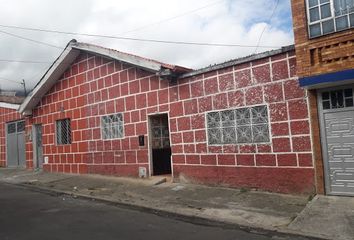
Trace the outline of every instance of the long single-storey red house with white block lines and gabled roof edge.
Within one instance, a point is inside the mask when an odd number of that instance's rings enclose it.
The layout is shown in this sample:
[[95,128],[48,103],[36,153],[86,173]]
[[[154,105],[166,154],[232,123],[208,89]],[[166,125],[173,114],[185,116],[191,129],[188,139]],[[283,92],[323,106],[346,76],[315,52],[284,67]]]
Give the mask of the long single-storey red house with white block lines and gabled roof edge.
[[190,70],[71,41],[19,112],[29,168],[314,191],[293,46]]

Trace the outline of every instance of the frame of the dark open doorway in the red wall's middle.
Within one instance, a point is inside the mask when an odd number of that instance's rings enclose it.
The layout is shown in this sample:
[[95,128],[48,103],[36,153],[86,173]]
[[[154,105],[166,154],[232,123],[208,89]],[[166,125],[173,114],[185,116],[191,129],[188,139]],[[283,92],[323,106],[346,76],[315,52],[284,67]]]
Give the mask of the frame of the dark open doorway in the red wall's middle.
[[169,112],[156,112],[156,113],[150,113],[147,115],[148,119],[148,152],[149,152],[149,177],[155,176],[153,171],[154,171],[154,161],[153,161],[153,156],[152,156],[152,136],[151,136],[151,130],[152,130],[152,124],[151,124],[151,118],[153,117],[158,117],[166,115],[167,116],[167,122],[168,122],[168,135],[170,139],[170,147],[171,147],[171,176],[173,179],[174,172],[173,172],[173,153],[172,153],[172,144],[171,144],[171,121],[170,121],[170,115]]

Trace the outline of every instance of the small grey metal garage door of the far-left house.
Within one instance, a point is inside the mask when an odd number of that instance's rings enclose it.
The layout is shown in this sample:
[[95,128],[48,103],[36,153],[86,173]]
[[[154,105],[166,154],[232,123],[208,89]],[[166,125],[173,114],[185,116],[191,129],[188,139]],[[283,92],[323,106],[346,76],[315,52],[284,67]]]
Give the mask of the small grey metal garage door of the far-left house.
[[25,122],[6,124],[6,159],[8,167],[26,167]]

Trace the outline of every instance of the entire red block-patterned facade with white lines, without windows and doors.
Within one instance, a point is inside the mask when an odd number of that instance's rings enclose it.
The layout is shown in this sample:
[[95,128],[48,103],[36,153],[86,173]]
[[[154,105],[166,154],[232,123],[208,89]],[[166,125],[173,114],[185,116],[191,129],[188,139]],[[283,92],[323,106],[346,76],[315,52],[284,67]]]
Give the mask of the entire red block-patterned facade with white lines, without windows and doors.
[[[168,113],[175,177],[311,192],[314,169],[307,97],[298,87],[295,70],[295,56],[289,52],[172,84],[154,73],[82,54],[27,123],[43,125],[47,171],[137,176],[138,167],[150,167],[148,116]],[[207,112],[259,104],[269,108],[270,143],[208,145]],[[124,114],[124,138],[103,140],[101,116],[119,112]],[[71,119],[72,144],[57,146],[55,121],[64,118]],[[139,147],[139,135],[146,136],[145,147]],[[27,157],[32,159],[32,153]]]

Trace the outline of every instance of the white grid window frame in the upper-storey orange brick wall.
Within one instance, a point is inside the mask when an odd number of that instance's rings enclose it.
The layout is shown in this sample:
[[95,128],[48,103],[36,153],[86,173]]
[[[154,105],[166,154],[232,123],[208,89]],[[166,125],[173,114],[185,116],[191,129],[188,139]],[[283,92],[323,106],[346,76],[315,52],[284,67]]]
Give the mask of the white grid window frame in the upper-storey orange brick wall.
[[[306,2],[306,14],[307,14],[307,31],[308,31],[308,36],[309,36],[310,39],[318,38],[318,37],[322,37],[322,36],[325,36],[325,35],[328,35],[328,34],[332,34],[332,33],[336,33],[336,32],[341,32],[341,31],[345,31],[345,30],[354,28],[354,25],[351,26],[351,24],[350,24],[350,15],[353,14],[353,12],[352,12],[352,13],[346,13],[346,14],[341,15],[341,16],[347,16],[347,18],[348,18],[348,28],[341,29],[341,30],[337,30],[336,18],[338,18],[339,16],[337,16],[337,17],[335,16],[334,0],[329,0],[329,4],[330,4],[330,8],[331,8],[331,16],[330,16],[330,17],[321,19],[321,6],[322,6],[322,5],[326,5],[326,4],[328,4],[328,3],[320,3],[320,2],[319,2],[319,4],[318,4],[316,7],[319,8],[320,20],[317,20],[317,21],[314,21],[314,22],[310,22],[310,9],[313,9],[313,8],[315,8],[315,7],[311,7],[311,8],[310,8],[310,3],[309,3],[309,1],[310,1],[310,0],[305,0],[305,2]],[[319,1],[320,1],[320,0],[319,0]],[[334,31],[324,34],[324,33],[323,33],[322,23],[323,23],[323,22],[326,22],[326,21],[328,21],[328,20],[331,20],[331,19],[333,19]],[[316,25],[316,24],[320,24],[321,34],[318,35],[318,36],[315,36],[315,37],[311,37],[310,26]]]

